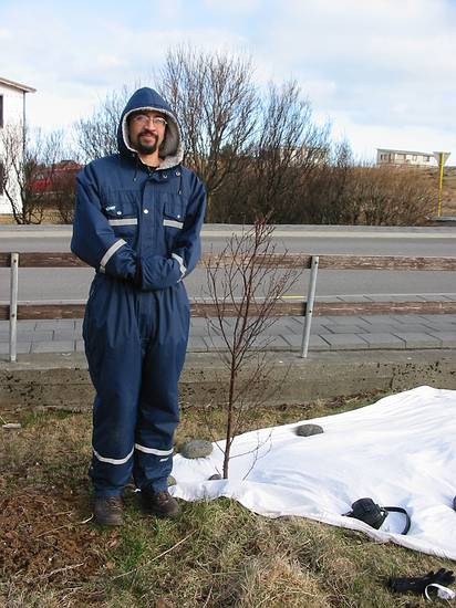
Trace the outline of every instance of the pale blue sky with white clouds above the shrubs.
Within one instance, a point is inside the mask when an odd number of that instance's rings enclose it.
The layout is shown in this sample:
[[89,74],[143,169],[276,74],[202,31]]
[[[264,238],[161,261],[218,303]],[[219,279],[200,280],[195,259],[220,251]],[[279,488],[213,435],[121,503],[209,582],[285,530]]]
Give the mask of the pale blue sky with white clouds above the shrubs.
[[248,55],[259,87],[296,78],[315,122],[360,159],[449,151],[456,0],[0,0],[0,77],[37,88],[28,119],[62,128],[179,44]]

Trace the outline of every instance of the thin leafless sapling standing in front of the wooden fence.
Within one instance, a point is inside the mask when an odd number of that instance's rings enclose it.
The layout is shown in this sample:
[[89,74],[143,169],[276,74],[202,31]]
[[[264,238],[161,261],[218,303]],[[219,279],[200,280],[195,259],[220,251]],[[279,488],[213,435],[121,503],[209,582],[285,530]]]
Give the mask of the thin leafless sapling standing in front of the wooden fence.
[[250,230],[234,234],[206,266],[216,311],[215,318],[209,319],[209,335],[221,337],[225,348],[218,354],[229,371],[224,478],[228,478],[234,439],[249,411],[280,388],[277,384],[271,387],[270,338],[266,332],[277,321],[276,304],[299,271],[280,269],[287,253],[276,254],[272,233],[272,226],[258,220]]

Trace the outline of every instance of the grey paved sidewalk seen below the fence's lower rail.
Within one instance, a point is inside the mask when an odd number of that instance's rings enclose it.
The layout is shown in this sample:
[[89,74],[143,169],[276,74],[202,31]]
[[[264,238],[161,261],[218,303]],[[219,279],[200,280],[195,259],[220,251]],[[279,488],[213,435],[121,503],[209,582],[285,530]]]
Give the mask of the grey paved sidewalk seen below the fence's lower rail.
[[[232,319],[228,319],[228,325]],[[265,335],[268,349],[297,353],[301,348],[304,318],[280,317]],[[0,359],[9,352],[9,323],[0,321]],[[206,319],[191,318],[189,353],[224,348],[217,332],[209,335]],[[310,352],[416,350],[456,348],[456,314],[315,316]],[[19,321],[18,355],[83,353],[82,319]]]

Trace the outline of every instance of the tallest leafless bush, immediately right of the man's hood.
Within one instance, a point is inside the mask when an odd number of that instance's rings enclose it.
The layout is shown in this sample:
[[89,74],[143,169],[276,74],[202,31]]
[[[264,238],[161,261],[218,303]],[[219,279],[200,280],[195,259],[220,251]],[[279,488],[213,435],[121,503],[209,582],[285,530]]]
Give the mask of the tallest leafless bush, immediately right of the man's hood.
[[240,169],[256,126],[251,62],[180,46],[166,56],[159,90],[184,125],[186,163],[206,185],[214,219],[213,195]]

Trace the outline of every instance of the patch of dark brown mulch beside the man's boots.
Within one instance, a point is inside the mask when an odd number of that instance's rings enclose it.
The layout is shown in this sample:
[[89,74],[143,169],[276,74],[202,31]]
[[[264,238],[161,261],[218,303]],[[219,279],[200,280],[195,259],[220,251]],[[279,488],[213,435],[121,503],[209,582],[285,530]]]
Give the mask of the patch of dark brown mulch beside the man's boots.
[[117,530],[101,535],[91,521],[86,496],[53,495],[34,489],[0,500],[0,570],[10,590],[3,594],[4,599],[11,599],[11,606],[18,600],[20,606],[39,606],[40,599],[33,600],[33,596],[51,587],[56,591],[58,606],[68,605],[70,597],[70,605],[97,602],[102,594],[92,593],[86,583],[106,567],[104,552],[115,548],[120,541]]

